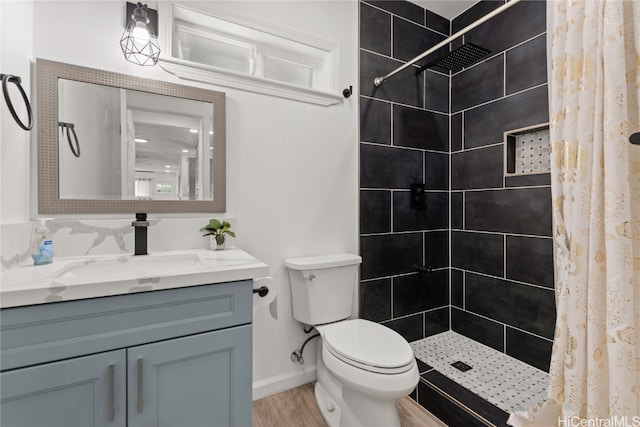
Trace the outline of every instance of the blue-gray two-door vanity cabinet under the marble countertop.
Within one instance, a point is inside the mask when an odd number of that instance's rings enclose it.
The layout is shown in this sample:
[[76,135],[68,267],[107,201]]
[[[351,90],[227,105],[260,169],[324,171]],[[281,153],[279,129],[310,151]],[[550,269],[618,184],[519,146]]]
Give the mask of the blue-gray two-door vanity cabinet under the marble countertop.
[[251,425],[252,282],[0,311],[0,425]]

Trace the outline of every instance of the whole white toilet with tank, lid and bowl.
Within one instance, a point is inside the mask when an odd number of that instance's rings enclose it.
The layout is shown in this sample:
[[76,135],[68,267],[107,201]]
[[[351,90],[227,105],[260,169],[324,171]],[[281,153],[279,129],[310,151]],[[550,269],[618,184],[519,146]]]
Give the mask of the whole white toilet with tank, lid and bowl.
[[418,368],[400,334],[348,319],[361,261],[353,254],[285,260],[293,317],[320,333],[315,395],[327,424],[400,426],[395,403],[418,384]]

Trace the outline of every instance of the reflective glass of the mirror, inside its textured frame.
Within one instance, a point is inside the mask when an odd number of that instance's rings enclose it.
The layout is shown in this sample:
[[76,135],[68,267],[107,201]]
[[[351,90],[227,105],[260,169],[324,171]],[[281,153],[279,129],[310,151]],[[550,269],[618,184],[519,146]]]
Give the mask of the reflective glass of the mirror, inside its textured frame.
[[214,108],[59,79],[60,198],[213,200]]

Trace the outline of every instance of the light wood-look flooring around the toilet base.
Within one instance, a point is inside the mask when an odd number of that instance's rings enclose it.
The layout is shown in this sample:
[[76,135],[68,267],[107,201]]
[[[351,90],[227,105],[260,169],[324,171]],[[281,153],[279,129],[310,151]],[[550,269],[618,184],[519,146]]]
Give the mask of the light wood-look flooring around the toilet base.
[[[253,402],[253,427],[327,427],[316,404],[314,383]],[[402,427],[446,427],[413,399],[398,402]],[[369,426],[368,426],[369,427]]]

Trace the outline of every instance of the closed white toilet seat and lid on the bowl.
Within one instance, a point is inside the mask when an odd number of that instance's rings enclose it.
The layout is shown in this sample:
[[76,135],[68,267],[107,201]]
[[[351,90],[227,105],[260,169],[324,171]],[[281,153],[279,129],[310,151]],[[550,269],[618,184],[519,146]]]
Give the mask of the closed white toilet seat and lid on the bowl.
[[364,319],[344,320],[316,329],[333,356],[353,367],[380,374],[400,374],[414,365],[411,346],[397,332]]

